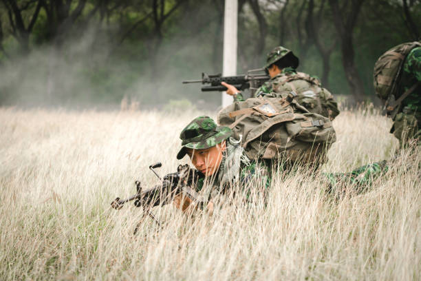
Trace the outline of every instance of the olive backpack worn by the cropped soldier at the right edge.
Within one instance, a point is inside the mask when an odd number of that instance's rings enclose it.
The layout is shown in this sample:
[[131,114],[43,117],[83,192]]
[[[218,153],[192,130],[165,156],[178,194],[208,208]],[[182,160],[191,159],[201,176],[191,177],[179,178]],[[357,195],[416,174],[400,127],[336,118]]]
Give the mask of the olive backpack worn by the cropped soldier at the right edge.
[[398,97],[398,81],[402,72],[402,65],[411,50],[421,46],[414,41],[397,45],[382,54],[374,64],[374,90],[376,95],[385,103],[390,114],[406,98],[415,87],[411,87],[402,96]]

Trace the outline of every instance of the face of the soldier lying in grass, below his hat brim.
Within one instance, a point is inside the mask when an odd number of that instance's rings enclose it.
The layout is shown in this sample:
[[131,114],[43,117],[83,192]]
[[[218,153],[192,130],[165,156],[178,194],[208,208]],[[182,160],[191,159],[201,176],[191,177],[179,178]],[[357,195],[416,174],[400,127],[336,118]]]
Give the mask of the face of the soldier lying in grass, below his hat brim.
[[187,154],[198,171],[205,176],[212,176],[219,169],[219,165],[221,165],[222,152],[225,149],[226,143],[223,141],[207,149],[188,149]]

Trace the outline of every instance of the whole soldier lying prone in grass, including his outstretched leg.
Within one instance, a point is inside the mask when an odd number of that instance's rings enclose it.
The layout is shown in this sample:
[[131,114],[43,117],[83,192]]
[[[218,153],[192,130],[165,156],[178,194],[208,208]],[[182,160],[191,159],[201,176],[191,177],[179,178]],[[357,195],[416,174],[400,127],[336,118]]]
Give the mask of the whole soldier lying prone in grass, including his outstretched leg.
[[[177,159],[186,154],[198,171],[199,177],[194,188],[205,198],[212,200],[219,194],[224,194],[231,187],[240,185],[244,189],[261,186],[268,189],[270,171],[263,161],[250,160],[244,154],[244,148],[232,137],[229,127],[217,126],[212,118],[199,116],[189,123],[181,132],[182,148]],[[334,191],[337,185],[363,187],[387,171],[385,162],[365,165],[351,173],[324,173],[329,185],[328,191]],[[177,196],[174,199],[177,208],[185,211],[191,204],[186,197]]]

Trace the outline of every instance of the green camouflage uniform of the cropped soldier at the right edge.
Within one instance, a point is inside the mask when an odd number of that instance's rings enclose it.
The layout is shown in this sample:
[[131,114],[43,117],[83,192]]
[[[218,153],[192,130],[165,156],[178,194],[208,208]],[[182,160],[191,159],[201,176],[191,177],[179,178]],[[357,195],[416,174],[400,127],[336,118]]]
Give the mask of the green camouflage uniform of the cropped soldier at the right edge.
[[[398,83],[398,96],[407,91],[415,83],[421,81],[421,47],[413,48],[409,52],[402,66],[402,76]],[[421,137],[421,85],[404,98],[401,110],[393,117],[391,133],[402,143],[411,138]]]

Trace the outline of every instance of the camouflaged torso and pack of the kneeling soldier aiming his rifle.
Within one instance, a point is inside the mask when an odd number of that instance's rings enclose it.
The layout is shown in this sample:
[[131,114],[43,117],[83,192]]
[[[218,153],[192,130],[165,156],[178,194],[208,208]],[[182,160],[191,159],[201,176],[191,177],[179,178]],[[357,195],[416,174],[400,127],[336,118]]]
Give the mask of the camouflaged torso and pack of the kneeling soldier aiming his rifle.
[[[321,114],[330,120],[339,114],[338,104],[332,94],[321,87],[319,79],[296,72],[292,67],[284,68],[280,74],[263,83],[255,92],[255,98],[276,98],[283,92],[291,91],[296,92],[296,101],[310,112]],[[238,94],[235,101],[244,101],[244,98]]]

